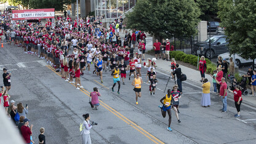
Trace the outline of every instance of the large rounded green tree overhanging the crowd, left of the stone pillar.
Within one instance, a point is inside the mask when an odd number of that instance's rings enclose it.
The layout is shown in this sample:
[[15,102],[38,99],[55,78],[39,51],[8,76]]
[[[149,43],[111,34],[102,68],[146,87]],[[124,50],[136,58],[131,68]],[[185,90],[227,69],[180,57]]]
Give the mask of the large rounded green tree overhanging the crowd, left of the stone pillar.
[[193,0],[138,1],[126,15],[127,28],[149,31],[156,38],[196,34],[200,10]]

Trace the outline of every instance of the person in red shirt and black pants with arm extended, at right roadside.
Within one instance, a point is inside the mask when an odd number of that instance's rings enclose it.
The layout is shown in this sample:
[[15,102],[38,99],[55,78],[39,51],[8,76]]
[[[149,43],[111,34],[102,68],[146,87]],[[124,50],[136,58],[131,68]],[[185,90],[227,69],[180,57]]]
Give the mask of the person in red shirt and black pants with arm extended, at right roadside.
[[236,106],[236,110],[238,111],[237,114],[234,114],[235,118],[240,118],[240,106],[242,103],[242,92],[241,92],[241,87],[236,86],[236,89],[230,90],[228,89],[231,93],[234,94],[234,105]]

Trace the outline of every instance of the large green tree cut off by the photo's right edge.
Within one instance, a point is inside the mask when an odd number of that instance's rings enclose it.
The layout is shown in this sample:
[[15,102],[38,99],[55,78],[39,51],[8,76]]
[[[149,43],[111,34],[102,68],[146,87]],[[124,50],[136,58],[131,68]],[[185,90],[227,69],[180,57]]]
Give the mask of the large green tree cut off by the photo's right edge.
[[256,58],[256,2],[254,0],[219,0],[218,17],[222,20],[231,54]]

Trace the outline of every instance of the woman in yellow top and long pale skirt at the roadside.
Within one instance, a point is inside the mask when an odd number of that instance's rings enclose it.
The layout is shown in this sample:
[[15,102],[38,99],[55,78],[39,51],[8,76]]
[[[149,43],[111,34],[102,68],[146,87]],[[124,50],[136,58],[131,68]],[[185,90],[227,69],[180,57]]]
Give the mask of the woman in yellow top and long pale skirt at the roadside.
[[202,84],[202,98],[201,98],[202,107],[210,107],[210,82],[208,79],[204,79]]

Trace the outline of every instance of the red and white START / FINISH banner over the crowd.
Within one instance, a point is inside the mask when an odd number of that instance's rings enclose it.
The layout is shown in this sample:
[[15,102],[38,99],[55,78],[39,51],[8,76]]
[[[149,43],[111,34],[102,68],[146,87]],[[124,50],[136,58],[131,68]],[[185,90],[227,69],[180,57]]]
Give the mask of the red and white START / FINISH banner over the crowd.
[[30,20],[39,18],[54,18],[54,9],[12,10],[13,20]]

